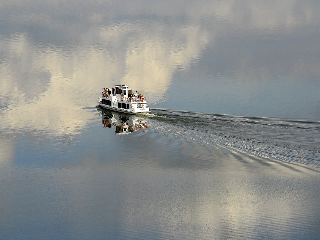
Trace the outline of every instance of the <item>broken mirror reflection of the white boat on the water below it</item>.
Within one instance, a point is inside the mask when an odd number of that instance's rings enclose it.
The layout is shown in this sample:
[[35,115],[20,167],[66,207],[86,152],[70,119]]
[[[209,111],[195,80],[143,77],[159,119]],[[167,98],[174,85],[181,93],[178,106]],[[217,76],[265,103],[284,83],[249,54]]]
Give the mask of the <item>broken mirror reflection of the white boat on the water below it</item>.
[[127,115],[120,112],[101,110],[102,127],[115,127],[115,134],[129,134],[136,131],[143,131],[148,128],[147,119],[136,115]]

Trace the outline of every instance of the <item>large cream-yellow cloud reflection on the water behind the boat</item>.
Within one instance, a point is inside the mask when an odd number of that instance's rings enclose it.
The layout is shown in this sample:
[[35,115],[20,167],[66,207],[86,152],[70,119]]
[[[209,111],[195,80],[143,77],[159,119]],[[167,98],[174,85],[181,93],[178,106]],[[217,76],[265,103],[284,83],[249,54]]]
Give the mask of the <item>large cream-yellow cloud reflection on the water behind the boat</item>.
[[[139,88],[150,102],[163,101],[175,68],[188,67],[208,41],[207,30],[197,25],[170,25],[168,31],[162,21],[144,25],[115,24],[117,16],[111,19],[111,24],[101,26],[94,26],[96,18],[85,18],[87,24],[77,24],[77,28],[83,29],[75,33],[74,22],[70,20],[61,26],[59,18],[53,17],[53,13],[69,16],[71,6],[60,12],[49,9],[52,11],[47,13],[50,21],[39,17],[44,9],[37,7],[30,11],[25,7],[29,15],[24,13],[19,18],[21,5],[13,8],[17,12],[9,8],[18,19],[10,24],[21,31],[2,37],[1,51],[5,58],[0,65],[4,76],[1,94],[6,96],[4,101],[8,106],[11,101],[15,102],[15,106],[6,107],[3,114],[9,124],[14,122],[14,112],[24,112],[25,126],[64,129],[68,134],[91,118],[82,107],[96,102],[101,87],[120,79],[132,88]],[[3,6],[2,11],[5,10]],[[86,15],[94,14],[92,9],[86,10]],[[102,19],[107,13],[103,13]],[[45,11],[42,14],[45,15]],[[141,12],[135,14],[139,16]],[[56,32],[57,35],[52,35]],[[70,34],[76,43],[70,40]],[[60,41],[63,38],[65,42]],[[78,115],[83,119],[73,121]]]

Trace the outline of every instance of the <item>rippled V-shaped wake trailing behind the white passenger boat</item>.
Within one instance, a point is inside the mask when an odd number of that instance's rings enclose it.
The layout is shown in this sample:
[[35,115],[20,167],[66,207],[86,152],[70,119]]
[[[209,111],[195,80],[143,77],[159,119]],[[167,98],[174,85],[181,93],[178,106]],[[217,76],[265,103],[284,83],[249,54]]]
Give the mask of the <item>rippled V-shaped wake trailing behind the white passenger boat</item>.
[[150,113],[158,118],[149,118],[149,126],[166,136],[251,159],[256,156],[267,162],[302,164],[304,169],[320,172],[320,121],[168,109],[152,109]]

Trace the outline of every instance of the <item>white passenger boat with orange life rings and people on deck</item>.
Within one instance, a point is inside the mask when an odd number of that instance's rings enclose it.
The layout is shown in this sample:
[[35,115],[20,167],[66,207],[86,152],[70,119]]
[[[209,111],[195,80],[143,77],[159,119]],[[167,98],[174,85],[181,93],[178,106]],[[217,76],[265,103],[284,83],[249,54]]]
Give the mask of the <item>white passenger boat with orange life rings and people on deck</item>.
[[117,112],[130,114],[150,112],[147,97],[134,96],[132,89],[123,84],[115,85],[111,91],[102,92],[98,104],[105,109]]

